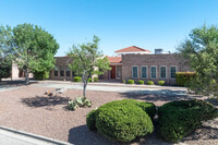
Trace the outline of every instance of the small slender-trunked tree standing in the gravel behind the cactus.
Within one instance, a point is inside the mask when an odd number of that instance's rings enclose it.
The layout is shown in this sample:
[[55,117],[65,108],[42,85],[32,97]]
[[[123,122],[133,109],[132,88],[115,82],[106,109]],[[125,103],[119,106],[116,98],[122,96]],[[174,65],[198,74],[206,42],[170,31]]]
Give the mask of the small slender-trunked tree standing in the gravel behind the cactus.
[[73,45],[72,49],[68,52],[68,56],[73,58],[70,69],[82,76],[83,80],[83,96],[86,97],[86,86],[88,78],[92,75],[104,74],[107,70],[110,70],[110,62],[107,57],[104,57],[101,51],[98,50],[98,41],[100,39],[97,36],[93,37],[93,43]]

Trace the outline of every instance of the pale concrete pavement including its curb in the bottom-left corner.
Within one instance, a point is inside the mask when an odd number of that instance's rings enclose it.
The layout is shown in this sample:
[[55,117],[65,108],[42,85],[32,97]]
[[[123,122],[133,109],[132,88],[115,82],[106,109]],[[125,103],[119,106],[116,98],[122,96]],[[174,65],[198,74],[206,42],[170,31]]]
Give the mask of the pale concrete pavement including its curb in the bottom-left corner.
[[1,145],[72,145],[70,143],[0,126]]

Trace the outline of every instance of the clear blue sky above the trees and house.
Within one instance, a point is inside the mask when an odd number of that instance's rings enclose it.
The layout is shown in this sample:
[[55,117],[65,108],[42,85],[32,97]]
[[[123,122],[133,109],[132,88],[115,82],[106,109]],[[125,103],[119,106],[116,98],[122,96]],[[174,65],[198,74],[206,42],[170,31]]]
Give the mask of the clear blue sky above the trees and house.
[[133,45],[174,52],[191,29],[218,24],[218,0],[0,0],[0,25],[44,27],[60,44],[57,56],[94,35],[109,56]]

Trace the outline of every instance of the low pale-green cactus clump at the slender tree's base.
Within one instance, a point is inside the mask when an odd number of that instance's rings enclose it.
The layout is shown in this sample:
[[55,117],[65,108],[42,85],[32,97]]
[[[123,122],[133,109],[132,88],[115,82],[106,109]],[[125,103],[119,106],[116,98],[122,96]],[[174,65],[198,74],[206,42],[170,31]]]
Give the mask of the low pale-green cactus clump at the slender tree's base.
[[69,110],[75,110],[78,107],[92,107],[92,101],[86,97],[77,97],[74,100],[69,101],[68,108]]

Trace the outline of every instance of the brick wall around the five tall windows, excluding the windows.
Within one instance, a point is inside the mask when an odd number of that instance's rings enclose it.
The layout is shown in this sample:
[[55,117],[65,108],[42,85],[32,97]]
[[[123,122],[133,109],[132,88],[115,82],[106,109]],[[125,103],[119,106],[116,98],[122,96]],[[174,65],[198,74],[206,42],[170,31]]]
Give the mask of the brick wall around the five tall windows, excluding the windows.
[[[138,77],[132,77],[132,67],[138,67]],[[147,67],[147,78],[141,77],[141,67]],[[150,67],[157,67],[157,78],[150,78]],[[167,78],[160,78],[160,65],[167,67]],[[122,80],[143,80],[145,83],[147,81],[154,81],[155,84],[158,81],[162,80],[166,84],[173,85],[175,84],[174,78],[170,78],[170,67],[175,65],[177,72],[186,72],[191,71],[189,65],[185,63],[183,59],[178,58],[175,55],[123,55],[122,56]]]

